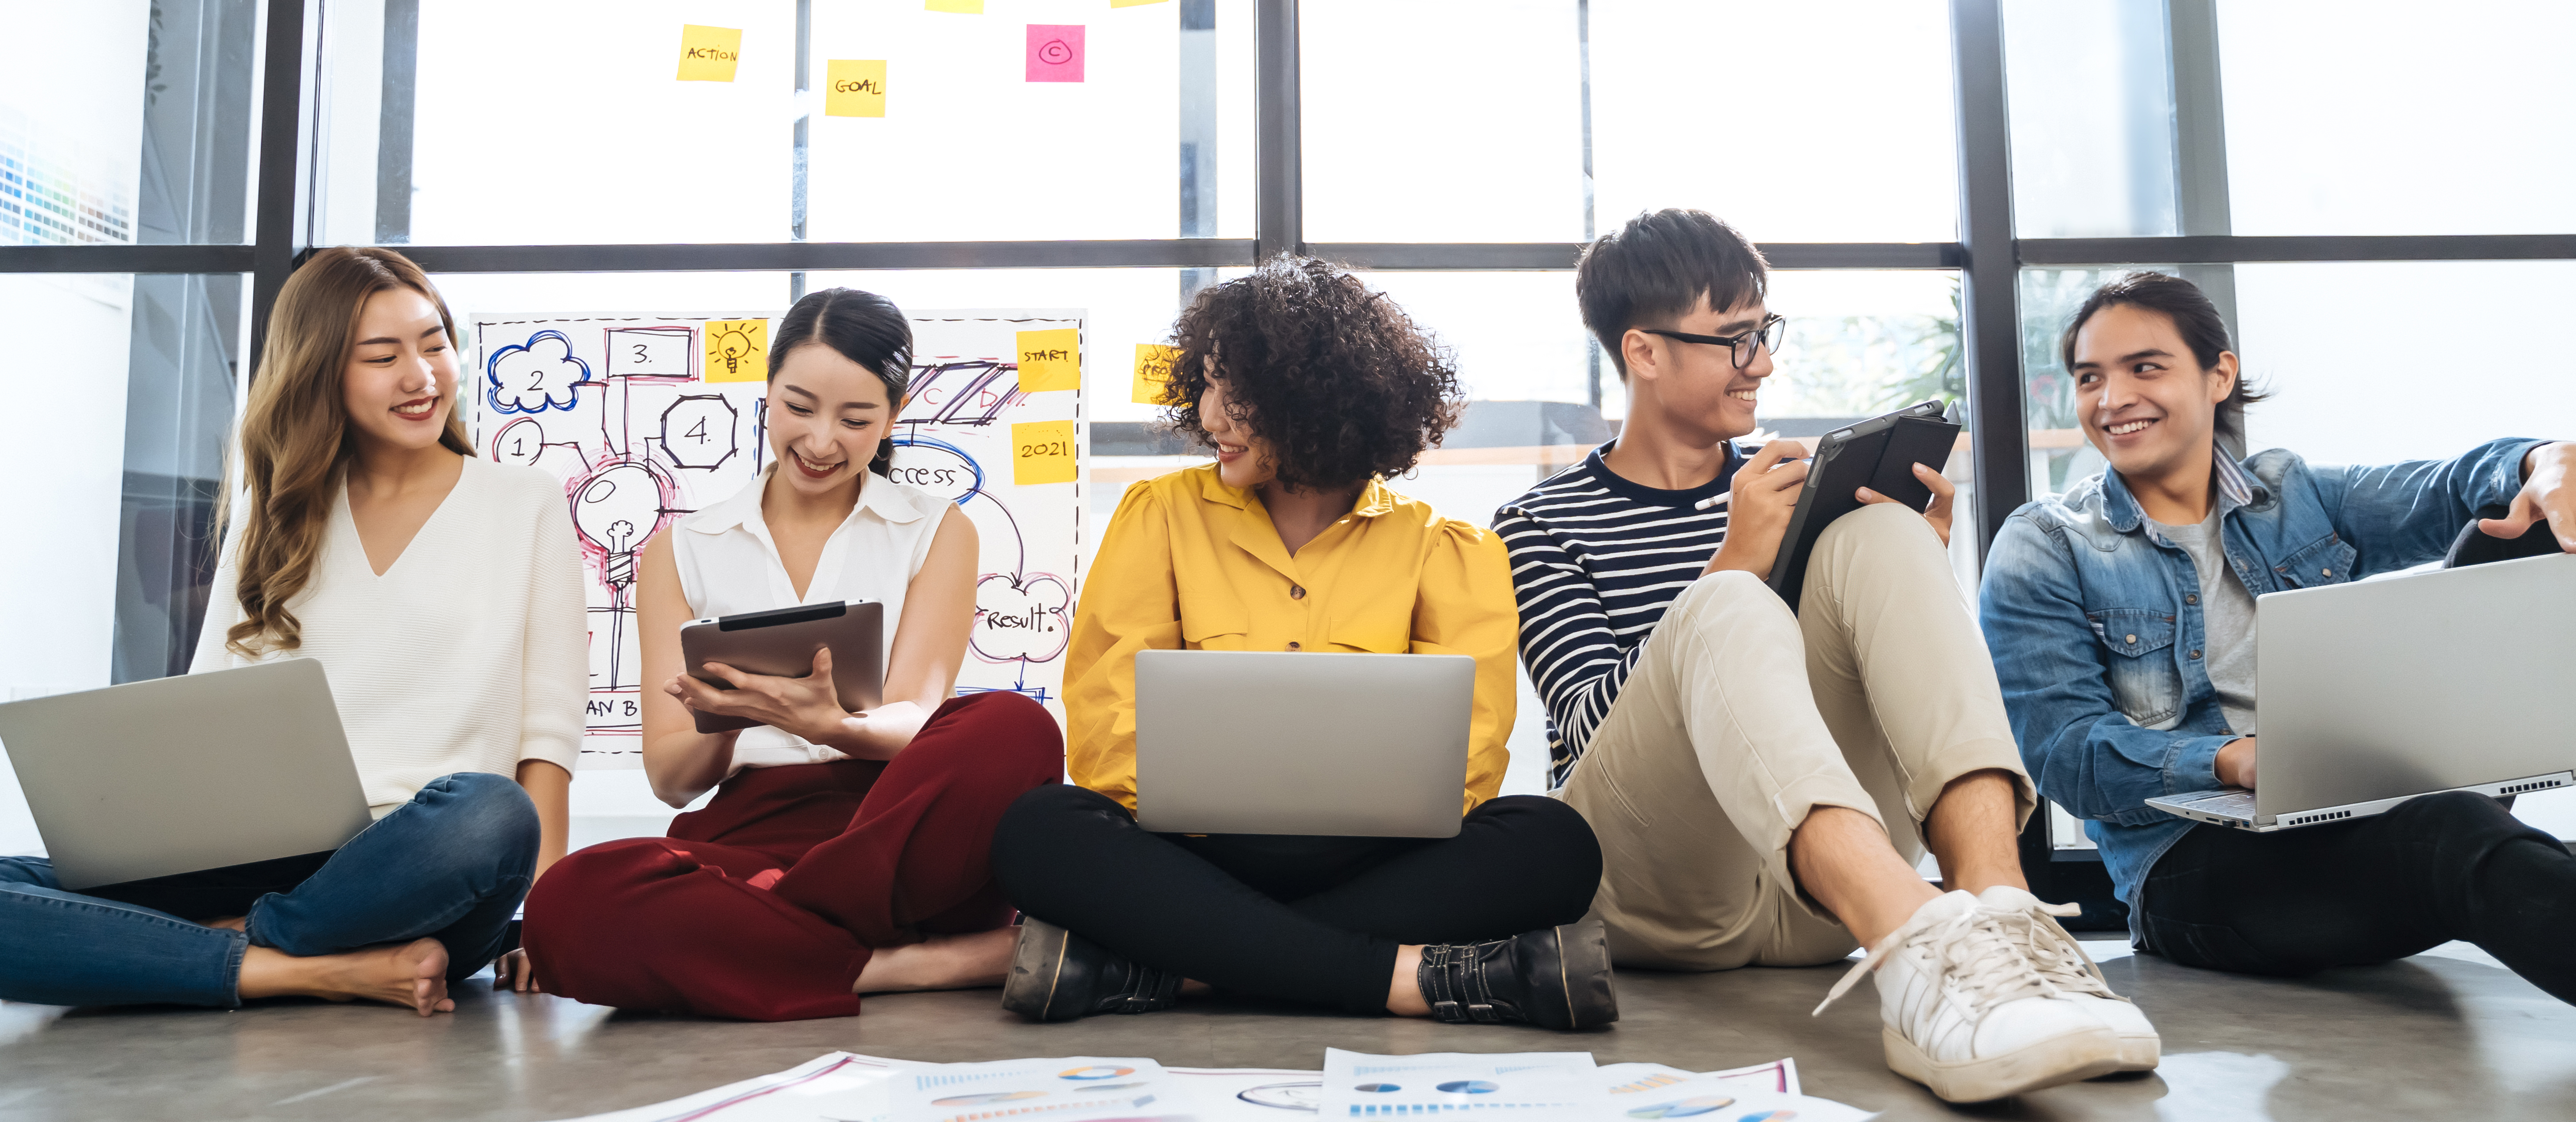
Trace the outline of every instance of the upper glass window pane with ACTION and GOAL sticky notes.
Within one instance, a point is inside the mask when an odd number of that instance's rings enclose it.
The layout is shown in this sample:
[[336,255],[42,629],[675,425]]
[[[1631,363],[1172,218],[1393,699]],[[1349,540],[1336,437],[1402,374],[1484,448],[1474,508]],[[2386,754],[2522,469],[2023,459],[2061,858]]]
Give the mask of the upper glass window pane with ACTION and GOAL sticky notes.
[[[417,8],[389,23],[374,0],[327,5],[325,244],[1252,232],[1249,0],[814,5],[806,93],[796,5]],[[688,26],[719,26],[729,77],[680,80]],[[1038,75],[1041,33],[1079,64]],[[884,82],[881,116],[842,116],[858,106],[832,93],[835,62],[881,64],[842,69]]]

